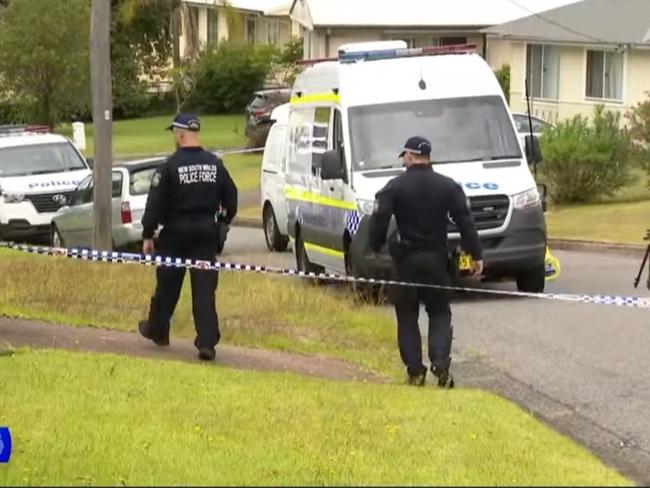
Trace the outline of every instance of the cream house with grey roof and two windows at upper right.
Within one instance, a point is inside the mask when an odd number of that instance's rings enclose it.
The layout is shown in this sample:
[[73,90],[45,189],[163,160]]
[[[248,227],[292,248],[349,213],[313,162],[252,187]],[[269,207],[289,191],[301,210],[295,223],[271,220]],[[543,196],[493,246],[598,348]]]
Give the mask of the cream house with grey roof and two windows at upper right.
[[[650,0],[582,0],[483,31],[493,66],[511,67],[510,105],[555,121],[621,113],[650,91]],[[623,120],[624,122],[624,120]]]

